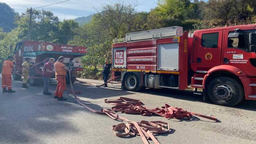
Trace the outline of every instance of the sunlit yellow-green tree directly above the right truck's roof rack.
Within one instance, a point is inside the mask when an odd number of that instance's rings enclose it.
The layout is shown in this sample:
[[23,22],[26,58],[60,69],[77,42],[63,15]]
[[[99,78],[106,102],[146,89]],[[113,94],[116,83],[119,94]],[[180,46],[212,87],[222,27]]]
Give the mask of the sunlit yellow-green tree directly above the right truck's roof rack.
[[149,28],[182,26],[183,30],[193,29],[198,23],[199,2],[190,0],[159,0],[158,6],[148,15]]

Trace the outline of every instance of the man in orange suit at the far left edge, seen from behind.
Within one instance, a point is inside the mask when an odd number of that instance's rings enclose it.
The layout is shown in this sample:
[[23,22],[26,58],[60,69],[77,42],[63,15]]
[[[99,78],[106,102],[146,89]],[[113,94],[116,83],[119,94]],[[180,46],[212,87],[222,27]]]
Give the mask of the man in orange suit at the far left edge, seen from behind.
[[[12,90],[12,70],[14,71],[13,57],[8,56],[8,58],[3,62],[2,67],[2,88],[3,93],[15,93],[15,91]],[[6,87],[8,90],[6,90]]]

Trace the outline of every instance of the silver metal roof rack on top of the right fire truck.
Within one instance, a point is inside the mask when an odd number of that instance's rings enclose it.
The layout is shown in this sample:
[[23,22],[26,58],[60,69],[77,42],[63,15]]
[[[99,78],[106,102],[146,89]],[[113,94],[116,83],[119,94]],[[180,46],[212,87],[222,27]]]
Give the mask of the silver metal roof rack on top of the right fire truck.
[[132,42],[137,40],[165,38],[165,37],[181,36],[181,35],[183,35],[183,28],[179,26],[173,26],[173,27],[158,28],[158,29],[148,30],[148,31],[128,33],[128,34],[125,34],[124,39],[116,38],[113,40],[113,43]]

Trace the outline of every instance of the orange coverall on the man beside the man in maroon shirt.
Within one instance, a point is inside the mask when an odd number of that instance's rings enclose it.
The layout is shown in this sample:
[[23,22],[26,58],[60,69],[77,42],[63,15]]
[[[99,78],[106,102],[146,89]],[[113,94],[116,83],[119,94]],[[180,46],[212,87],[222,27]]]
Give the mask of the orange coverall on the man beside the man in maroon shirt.
[[67,71],[65,69],[63,69],[63,67],[65,67],[65,66],[66,65],[64,65],[61,62],[54,63],[55,76],[56,76],[57,83],[58,83],[54,96],[58,96],[59,98],[62,97],[63,92],[66,89]]

